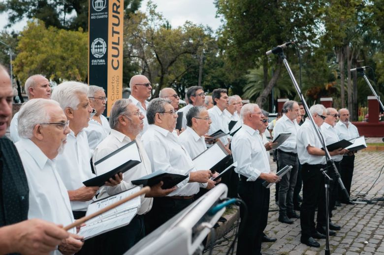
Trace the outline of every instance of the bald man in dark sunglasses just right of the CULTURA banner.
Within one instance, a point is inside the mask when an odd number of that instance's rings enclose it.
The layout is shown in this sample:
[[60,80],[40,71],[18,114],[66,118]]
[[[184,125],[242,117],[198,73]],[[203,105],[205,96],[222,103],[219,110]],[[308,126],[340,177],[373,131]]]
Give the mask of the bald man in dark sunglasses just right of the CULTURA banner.
[[143,131],[140,132],[142,135],[148,128],[146,114],[149,103],[147,99],[151,97],[152,84],[144,75],[134,75],[129,81],[129,87],[130,95],[128,99],[130,99],[144,114],[144,128]]

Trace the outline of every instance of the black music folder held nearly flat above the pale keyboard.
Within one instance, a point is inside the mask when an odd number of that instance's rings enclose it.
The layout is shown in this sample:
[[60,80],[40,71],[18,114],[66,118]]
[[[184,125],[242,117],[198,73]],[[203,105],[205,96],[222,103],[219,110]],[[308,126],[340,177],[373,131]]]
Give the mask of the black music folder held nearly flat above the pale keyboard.
[[188,177],[188,174],[169,173],[164,170],[156,170],[151,174],[131,181],[133,185],[154,186],[160,181],[163,182],[161,189],[170,189]]

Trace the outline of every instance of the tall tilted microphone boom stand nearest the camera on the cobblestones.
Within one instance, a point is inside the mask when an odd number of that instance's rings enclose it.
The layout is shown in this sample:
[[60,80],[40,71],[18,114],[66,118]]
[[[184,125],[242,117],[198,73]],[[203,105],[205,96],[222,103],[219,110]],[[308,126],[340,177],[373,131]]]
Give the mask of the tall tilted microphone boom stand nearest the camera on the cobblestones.
[[[278,49],[276,49],[276,48],[278,48]],[[304,96],[303,96],[303,94],[302,94],[302,92],[301,92],[301,89],[300,89],[299,85],[297,84],[295,77],[293,76],[292,70],[290,69],[289,64],[288,64],[288,61],[287,61],[287,57],[284,55],[283,49],[282,49],[281,47],[276,47],[276,48],[274,49],[274,52],[273,52],[273,53],[276,54],[276,55],[278,55],[278,56],[282,59],[284,65],[286,66],[287,71],[288,71],[288,74],[289,74],[289,77],[290,77],[290,79],[292,80],[292,83],[293,83],[293,85],[294,85],[295,88],[296,88],[297,94],[298,94],[299,97],[300,97],[300,100],[301,100],[301,102],[302,102],[302,104],[303,104],[303,106],[304,106],[305,111],[308,113],[308,117],[309,117],[309,119],[310,119],[311,122],[312,122],[313,128],[314,128],[314,130],[315,130],[316,135],[318,136],[318,138],[319,138],[319,140],[320,140],[321,146],[324,148],[326,162],[327,162],[327,164],[330,164],[330,165],[333,167],[333,169],[334,169],[334,171],[335,171],[335,173],[336,173],[336,176],[337,176],[337,178],[338,178],[337,181],[338,181],[338,183],[339,183],[339,185],[340,185],[340,188],[343,190],[344,194],[346,195],[346,197],[347,197],[348,200],[349,200],[349,199],[350,199],[350,196],[348,195],[347,189],[345,188],[345,186],[344,186],[344,184],[343,184],[343,181],[342,181],[341,178],[340,178],[340,174],[339,174],[339,172],[337,171],[335,162],[331,159],[331,156],[329,155],[329,151],[328,151],[328,149],[327,149],[327,147],[326,147],[326,145],[325,145],[325,141],[324,141],[324,138],[322,137],[322,135],[321,135],[321,133],[320,133],[319,127],[315,124],[315,120],[313,119],[312,114],[309,112],[309,108],[308,108],[307,102],[305,101]],[[327,175],[327,176],[328,176],[328,175]],[[329,178],[329,176],[328,176],[328,178]],[[326,192],[328,192],[328,191],[327,191],[327,188],[328,188],[328,187],[329,187],[329,181],[328,181],[328,186],[326,186]],[[327,208],[328,208],[328,199],[327,199],[327,196],[328,196],[328,193],[325,194],[325,199],[326,199],[326,205],[325,205],[325,208],[326,208],[326,210],[327,210]],[[329,230],[328,230],[328,227],[329,227],[329,216],[328,216],[328,212],[326,212],[326,225],[327,225],[327,226],[326,226],[326,231],[325,231],[325,233],[326,233],[326,239],[328,240],[328,239],[329,239]],[[327,242],[327,243],[328,243],[328,242]],[[325,255],[329,255],[329,244],[328,244],[328,246],[325,248]]]

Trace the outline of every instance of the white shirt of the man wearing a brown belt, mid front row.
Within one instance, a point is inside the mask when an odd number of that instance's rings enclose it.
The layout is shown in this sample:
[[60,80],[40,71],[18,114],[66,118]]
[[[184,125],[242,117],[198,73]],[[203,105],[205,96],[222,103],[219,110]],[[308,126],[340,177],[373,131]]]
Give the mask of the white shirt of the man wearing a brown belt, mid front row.
[[[176,131],[172,133],[156,125],[149,125],[142,136],[145,151],[151,160],[152,170],[188,174],[196,171],[191,156],[181,145]],[[168,196],[192,196],[199,192],[199,183],[189,182],[190,178],[177,184],[175,191]]]

